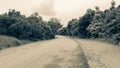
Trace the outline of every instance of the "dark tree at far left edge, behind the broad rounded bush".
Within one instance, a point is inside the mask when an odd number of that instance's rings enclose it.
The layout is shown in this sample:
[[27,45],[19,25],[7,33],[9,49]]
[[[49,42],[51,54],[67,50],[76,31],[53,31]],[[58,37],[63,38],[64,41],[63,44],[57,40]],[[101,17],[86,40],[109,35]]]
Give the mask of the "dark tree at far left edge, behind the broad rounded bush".
[[22,15],[19,11],[14,9],[9,10],[8,13],[0,15],[0,34],[7,35],[8,27],[12,24],[15,24],[21,20]]

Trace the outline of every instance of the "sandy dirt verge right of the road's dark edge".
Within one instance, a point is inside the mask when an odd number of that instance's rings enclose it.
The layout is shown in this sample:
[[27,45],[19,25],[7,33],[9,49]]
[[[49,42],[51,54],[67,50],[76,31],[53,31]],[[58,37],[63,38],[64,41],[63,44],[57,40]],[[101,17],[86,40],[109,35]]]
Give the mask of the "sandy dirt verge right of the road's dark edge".
[[90,68],[120,68],[120,47],[86,39],[77,39],[88,59]]

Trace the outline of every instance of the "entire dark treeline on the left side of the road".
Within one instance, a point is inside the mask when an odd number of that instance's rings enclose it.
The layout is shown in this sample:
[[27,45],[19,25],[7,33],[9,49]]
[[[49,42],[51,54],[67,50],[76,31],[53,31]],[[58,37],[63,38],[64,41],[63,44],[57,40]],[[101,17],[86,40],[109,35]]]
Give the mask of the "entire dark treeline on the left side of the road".
[[44,40],[55,37],[57,30],[62,27],[60,21],[51,18],[44,21],[38,13],[30,16],[21,15],[20,11],[10,9],[0,15],[0,35],[13,36],[25,40]]

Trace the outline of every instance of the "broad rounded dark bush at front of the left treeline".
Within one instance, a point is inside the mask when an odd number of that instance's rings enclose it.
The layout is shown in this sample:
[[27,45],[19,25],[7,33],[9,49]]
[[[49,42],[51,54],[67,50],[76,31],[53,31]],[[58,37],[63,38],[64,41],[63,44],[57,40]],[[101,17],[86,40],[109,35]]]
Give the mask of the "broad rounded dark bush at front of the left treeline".
[[38,23],[30,22],[29,20],[20,21],[11,25],[9,29],[10,35],[19,39],[43,40],[54,38],[55,35],[52,33],[50,26],[45,24],[44,21],[39,21]]

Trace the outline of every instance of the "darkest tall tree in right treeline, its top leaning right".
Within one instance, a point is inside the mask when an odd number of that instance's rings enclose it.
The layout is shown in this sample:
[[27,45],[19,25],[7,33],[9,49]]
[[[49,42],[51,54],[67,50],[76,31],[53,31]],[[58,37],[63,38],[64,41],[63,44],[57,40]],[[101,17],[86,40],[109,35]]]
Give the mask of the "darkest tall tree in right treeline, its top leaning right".
[[79,19],[78,30],[79,37],[88,38],[90,33],[87,31],[88,26],[91,24],[93,17],[95,15],[95,11],[92,9],[88,9],[87,13]]

